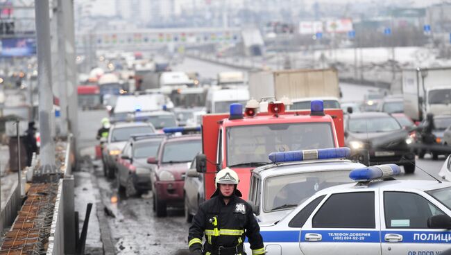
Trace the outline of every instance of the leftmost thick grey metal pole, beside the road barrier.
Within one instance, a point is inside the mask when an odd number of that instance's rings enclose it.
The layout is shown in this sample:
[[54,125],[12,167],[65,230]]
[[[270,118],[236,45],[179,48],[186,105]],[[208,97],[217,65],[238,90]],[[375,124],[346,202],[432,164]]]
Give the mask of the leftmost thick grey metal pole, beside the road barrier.
[[39,86],[39,123],[41,134],[41,173],[55,174],[55,144],[51,137],[53,93],[51,85],[51,51],[49,0],[35,1],[37,82]]

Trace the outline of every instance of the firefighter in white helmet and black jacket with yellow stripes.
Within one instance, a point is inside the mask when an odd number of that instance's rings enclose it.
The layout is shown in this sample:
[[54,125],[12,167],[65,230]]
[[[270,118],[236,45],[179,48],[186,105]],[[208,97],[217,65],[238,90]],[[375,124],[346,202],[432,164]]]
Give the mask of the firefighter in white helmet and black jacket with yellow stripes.
[[[237,189],[239,178],[230,168],[216,173],[216,191],[199,206],[189,228],[189,251],[194,255],[245,255],[246,236],[253,255],[264,254],[263,239],[251,206]],[[202,238],[205,234],[205,243]]]

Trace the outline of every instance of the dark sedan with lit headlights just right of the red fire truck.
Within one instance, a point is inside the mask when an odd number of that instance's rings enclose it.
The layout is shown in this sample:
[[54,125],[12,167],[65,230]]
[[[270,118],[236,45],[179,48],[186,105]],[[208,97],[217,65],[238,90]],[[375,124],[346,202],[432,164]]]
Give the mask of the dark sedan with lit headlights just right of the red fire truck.
[[413,139],[400,123],[383,112],[348,114],[345,118],[345,143],[352,155],[368,151],[369,164],[398,164],[406,173],[415,171],[415,155],[409,144]]

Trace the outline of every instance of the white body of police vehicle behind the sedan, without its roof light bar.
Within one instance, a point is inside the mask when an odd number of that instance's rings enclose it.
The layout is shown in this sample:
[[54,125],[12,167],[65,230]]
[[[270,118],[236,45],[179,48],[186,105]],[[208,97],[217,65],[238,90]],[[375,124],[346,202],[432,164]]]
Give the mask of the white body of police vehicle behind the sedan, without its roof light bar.
[[[299,198],[296,201],[296,204],[299,204],[323,188],[352,182],[348,177],[349,172],[355,168],[364,167],[364,164],[348,159],[294,161],[260,166],[253,170],[250,177],[248,200],[255,204],[257,210],[255,214],[259,222],[275,222],[296,209],[296,206],[270,209],[275,207],[275,202],[289,201],[289,197],[284,201],[278,197],[284,188],[292,186],[291,194],[287,195],[296,196],[295,200]],[[274,184],[282,178],[286,178],[287,182]]]

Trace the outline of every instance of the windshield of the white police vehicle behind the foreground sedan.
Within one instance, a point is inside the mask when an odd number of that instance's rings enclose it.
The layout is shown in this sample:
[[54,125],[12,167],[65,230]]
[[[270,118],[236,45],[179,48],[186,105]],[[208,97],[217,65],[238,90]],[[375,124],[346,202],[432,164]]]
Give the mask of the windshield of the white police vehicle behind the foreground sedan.
[[292,208],[307,200],[316,191],[349,183],[349,171],[316,171],[269,177],[264,182],[264,211]]

